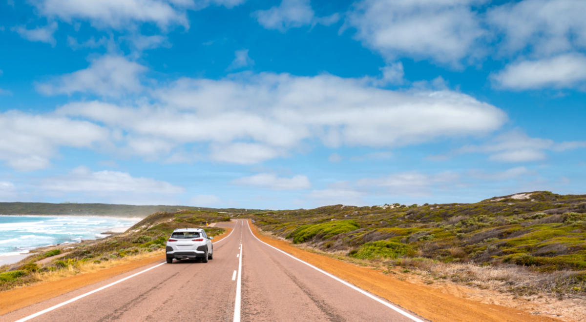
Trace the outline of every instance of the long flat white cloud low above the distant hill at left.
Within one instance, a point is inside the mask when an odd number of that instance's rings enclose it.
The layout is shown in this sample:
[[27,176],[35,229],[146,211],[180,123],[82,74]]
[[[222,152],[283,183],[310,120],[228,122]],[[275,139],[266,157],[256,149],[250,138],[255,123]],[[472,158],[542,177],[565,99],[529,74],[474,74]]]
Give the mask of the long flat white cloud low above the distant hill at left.
[[165,181],[144,177],[132,177],[126,172],[92,172],[87,167],[77,167],[66,176],[50,177],[40,184],[43,190],[61,193],[113,193],[178,194],[183,187]]

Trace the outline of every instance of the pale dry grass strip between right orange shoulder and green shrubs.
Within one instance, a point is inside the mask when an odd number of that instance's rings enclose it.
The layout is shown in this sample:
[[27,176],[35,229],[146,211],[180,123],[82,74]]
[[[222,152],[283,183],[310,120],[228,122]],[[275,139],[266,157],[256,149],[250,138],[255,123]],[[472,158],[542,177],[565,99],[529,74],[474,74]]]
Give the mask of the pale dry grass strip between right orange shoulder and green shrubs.
[[[325,252],[312,244],[295,246],[477,302],[513,307],[568,322],[586,321],[586,296],[584,292],[575,289],[577,284],[574,278],[586,276],[586,272],[564,270],[540,273],[517,265],[479,266],[473,263],[444,263],[427,258],[369,261],[350,258],[343,251]],[[452,256],[460,253],[457,248],[452,251]],[[586,289],[584,280],[581,284],[582,289]]]

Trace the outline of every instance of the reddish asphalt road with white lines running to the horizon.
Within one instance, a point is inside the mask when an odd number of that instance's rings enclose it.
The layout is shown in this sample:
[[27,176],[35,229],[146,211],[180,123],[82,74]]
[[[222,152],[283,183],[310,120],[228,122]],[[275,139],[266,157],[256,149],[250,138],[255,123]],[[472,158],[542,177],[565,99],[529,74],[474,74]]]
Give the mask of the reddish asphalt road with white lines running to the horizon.
[[[246,221],[226,226],[234,230],[214,243],[214,259],[208,263],[155,263],[13,311],[0,321],[424,320],[264,244]],[[100,289],[123,278],[128,279]],[[63,305],[30,318],[58,304]]]

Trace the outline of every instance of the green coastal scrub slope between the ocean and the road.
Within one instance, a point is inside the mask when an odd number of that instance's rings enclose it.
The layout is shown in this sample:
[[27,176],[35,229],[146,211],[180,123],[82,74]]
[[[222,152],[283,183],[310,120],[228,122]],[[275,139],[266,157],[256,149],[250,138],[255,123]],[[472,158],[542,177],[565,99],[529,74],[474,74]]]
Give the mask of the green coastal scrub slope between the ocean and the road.
[[[50,249],[29,256],[16,265],[0,266],[0,291],[16,286],[38,282],[34,273],[56,272],[67,269],[69,272],[80,271],[83,263],[103,263],[111,259],[125,258],[157,251],[165,248],[167,238],[177,228],[200,227],[210,237],[222,234],[225,229],[206,227],[212,222],[229,221],[243,213],[219,213],[216,211],[181,210],[174,213],[159,211],[149,215],[128,229],[124,234],[84,241],[75,246]],[[64,254],[50,263],[39,265],[38,261],[51,256]]]

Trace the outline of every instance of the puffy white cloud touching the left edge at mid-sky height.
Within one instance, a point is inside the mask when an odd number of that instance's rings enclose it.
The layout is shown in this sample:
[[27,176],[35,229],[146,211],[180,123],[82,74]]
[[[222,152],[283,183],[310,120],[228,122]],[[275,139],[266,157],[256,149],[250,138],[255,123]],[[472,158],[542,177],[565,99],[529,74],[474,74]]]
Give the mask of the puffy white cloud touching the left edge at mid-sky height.
[[0,160],[16,170],[45,169],[59,147],[91,148],[108,136],[87,121],[8,111],[0,114]]

